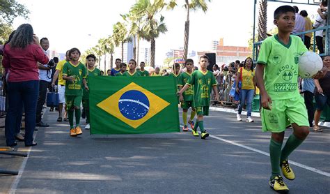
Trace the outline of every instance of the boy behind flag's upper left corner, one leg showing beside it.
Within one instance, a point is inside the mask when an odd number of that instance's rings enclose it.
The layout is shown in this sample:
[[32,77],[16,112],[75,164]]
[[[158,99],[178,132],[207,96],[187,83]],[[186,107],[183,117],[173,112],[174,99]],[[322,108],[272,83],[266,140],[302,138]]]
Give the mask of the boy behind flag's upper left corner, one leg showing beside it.
[[[97,75],[101,75],[101,70],[98,68],[95,68],[95,61],[96,61],[96,57],[94,54],[88,54],[88,56],[86,57],[86,61],[87,61],[87,77],[86,77],[86,84],[88,85],[88,77],[91,76],[97,76]],[[82,103],[83,103],[83,107],[84,110],[86,112],[86,127],[85,129],[90,129],[90,122],[91,122],[91,116],[89,114],[89,95],[88,95],[88,90],[84,89],[84,96],[82,98]]]

